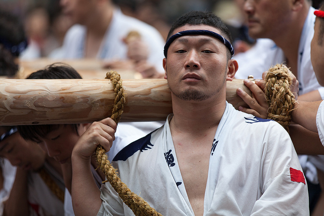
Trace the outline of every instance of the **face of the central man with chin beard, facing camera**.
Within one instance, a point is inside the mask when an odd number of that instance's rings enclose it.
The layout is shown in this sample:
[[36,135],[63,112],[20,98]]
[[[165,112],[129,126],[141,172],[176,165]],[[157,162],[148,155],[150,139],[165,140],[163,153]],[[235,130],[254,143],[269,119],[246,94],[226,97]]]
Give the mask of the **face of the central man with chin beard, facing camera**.
[[[210,30],[207,25],[185,25],[173,32]],[[226,91],[228,72],[227,48],[209,35],[186,35],[175,39],[169,47],[164,68],[173,95],[186,101],[202,101]],[[231,60],[230,60],[231,61]]]

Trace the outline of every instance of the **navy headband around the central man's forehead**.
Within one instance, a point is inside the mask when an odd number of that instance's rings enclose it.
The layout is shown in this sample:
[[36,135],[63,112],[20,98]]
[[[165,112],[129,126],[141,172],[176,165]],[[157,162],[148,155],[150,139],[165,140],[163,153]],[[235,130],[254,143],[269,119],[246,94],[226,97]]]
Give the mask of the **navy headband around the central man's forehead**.
[[231,53],[231,56],[234,55],[234,48],[231,45],[231,43],[225,39],[222,35],[214,32],[214,31],[209,31],[209,30],[187,30],[187,31],[180,31],[178,33],[175,33],[174,35],[172,35],[168,41],[166,42],[166,45],[164,46],[164,56],[167,58],[168,55],[168,49],[171,45],[171,43],[177,39],[178,37],[181,36],[185,36],[185,35],[210,35],[213,37],[216,37],[217,39],[219,39],[221,42],[224,43],[224,45],[227,47],[227,49],[229,50],[229,52]]

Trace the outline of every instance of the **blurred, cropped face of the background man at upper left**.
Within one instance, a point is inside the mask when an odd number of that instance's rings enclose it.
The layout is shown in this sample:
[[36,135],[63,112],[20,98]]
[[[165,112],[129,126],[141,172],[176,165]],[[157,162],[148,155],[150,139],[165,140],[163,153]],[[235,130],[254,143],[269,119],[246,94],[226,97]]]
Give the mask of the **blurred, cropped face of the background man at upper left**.
[[96,0],[60,0],[63,14],[73,23],[85,25],[95,13]]

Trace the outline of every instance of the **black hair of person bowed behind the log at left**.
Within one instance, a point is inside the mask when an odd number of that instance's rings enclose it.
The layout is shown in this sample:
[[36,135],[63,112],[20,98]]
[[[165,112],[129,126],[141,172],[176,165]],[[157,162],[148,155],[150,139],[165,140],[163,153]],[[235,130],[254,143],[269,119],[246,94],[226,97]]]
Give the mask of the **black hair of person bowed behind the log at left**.
[[[31,73],[26,79],[82,79],[80,74],[71,66],[63,63],[54,63],[42,70]],[[18,125],[20,136],[25,140],[39,142],[39,137],[45,138],[51,131],[58,129],[60,124]],[[79,124],[64,124],[71,126],[77,133]]]

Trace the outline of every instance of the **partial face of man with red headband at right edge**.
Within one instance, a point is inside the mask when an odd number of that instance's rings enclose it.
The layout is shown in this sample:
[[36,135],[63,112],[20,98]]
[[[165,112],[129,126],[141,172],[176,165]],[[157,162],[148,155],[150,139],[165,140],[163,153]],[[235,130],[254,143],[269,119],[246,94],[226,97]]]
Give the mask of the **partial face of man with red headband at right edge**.
[[[310,50],[310,59],[313,65],[313,69],[315,71],[317,80],[319,84],[324,85],[324,39],[319,38],[319,28],[320,28],[320,18],[316,18],[315,25],[314,25],[314,36],[311,42],[311,50]],[[322,39],[323,42],[319,45],[319,40]]]

